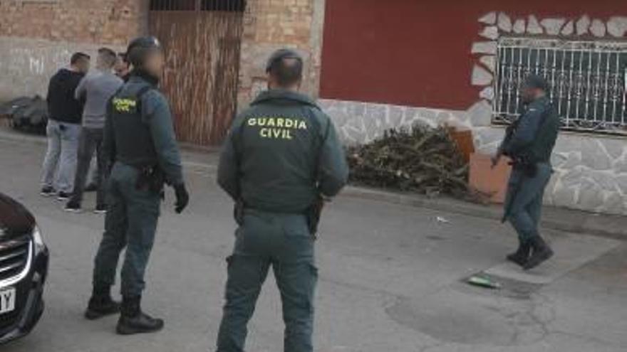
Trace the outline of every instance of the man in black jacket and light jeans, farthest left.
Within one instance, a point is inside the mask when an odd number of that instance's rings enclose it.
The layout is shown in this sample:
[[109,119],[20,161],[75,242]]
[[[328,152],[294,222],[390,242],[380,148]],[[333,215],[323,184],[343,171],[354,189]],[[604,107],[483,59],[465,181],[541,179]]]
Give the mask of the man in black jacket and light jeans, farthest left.
[[74,53],[69,68],[61,68],[48,85],[48,151],[43,161],[41,195],[67,200],[73,189],[83,102],[74,91],[89,70],[90,57]]

